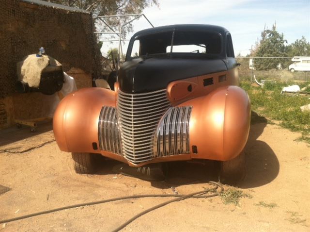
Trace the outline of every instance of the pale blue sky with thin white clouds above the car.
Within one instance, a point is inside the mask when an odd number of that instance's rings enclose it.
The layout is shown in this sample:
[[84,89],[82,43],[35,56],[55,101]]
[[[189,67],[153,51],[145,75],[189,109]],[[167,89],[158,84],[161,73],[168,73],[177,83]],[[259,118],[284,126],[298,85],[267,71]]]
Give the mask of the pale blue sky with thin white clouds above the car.
[[[143,14],[156,26],[172,24],[212,24],[231,32],[235,55],[247,55],[251,46],[261,38],[261,32],[276,22],[277,31],[284,34],[288,44],[305,36],[310,41],[310,0],[158,0],[144,9]],[[133,30],[150,28],[141,17],[134,21]],[[129,33],[130,39],[133,33]],[[118,43],[106,43],[102,53]],[[127,49],[127,43],[123,50]]]

